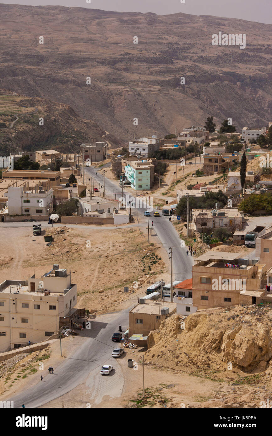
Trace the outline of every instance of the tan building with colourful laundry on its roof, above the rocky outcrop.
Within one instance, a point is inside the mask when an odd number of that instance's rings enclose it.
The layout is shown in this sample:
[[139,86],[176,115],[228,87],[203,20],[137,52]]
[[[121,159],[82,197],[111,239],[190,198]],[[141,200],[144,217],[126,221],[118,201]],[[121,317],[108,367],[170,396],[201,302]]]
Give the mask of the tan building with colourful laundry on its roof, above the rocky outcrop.
[[239,256],[241,253],[209,251],[194,260],[193,306],[198,310],[233,306],[240,303],[240,293],[252,293],[252,299],[256,298],[264,286],[266,265]]

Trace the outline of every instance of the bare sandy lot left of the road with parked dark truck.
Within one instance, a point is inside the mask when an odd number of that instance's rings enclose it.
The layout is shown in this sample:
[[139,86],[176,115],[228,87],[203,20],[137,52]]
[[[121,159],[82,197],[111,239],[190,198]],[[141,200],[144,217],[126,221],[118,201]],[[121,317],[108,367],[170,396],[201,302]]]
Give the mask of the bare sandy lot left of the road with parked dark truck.
[[[141,276],[150,276],[154,283],[164,272],[164,250],[148,239],[139,228],[96,230],[61,227],[64,232],[53,235],[52,246],[46,246],[43,235],[33,237],[31,228],[0,228],[0,283],[5,279],[28,279],[34,272],[41,276],[54,263],[72,272],[72,283],[77,284],[77,307],[97,311],[118,309],[126,299],[124,286]],[[59,229],[61,229],[59,228]],[[43,234],[45,232],[43,231]],[[152,241],[152,237],[151,237]],[[5,247],[9,246],[8,254]],[[145,256],[145,257],[144,257]],[[124,308],[122,306],[122,308]]]

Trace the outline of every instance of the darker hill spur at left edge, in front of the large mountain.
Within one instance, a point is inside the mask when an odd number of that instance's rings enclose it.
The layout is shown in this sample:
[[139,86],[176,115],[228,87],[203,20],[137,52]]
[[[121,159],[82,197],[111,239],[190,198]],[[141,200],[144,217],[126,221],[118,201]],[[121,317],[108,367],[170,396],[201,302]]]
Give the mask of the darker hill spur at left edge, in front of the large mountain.
[[[41,118],[43,119],[41,121]],[[81,143],[100,140],[117,144],[114,136],[70,106],[0,90],[0,152],[54,149],[78,152]]]

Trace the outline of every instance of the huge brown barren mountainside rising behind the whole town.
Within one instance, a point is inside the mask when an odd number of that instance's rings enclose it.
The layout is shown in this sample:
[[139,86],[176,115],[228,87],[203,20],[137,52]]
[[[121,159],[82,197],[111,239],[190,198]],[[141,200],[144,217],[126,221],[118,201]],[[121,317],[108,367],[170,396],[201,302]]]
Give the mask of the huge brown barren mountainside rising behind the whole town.
[[[135,117],[137,135],[203,125],[209,115],[238,128],[271,120],[269,24],[8,4],[0,16],[0,86],[71,106],[122,145]],[[213,46],[219,31],[246,34],[246,47]]]

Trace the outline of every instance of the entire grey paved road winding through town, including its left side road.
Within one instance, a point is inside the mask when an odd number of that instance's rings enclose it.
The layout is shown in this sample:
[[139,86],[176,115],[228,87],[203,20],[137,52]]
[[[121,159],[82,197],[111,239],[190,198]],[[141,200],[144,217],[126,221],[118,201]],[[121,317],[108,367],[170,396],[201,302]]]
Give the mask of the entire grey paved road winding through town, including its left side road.
[[[96,174],[96,169],[93,167],[87,167],[87,177],[88,174],[91,176],[95,176],[97,181],[103,184],[103,176],[101,174]],[[117,193],[117,198],[121,197],[121,188],[118,187],[117,183],[108,180],[105,178],[105,192],[106,194]],[[128,198],[133,198],[132,194],[124,191],[124,195],[128,195]],[[134,216],[136,215],[135,209],[132,210]],[[139,208],[138,214],[143,214],[144,209]],[[192,265],[193,258],[187,257],[186,249],[180,246],[180,238],[178,232],[176,232],[176,228],[169,222],[168,217],[160,217],[160,218],[150,218],[150,222],[153,219],[153,228],[158,235],[158,238],[161,240],[163,247],[167,252],[169,248],[173,249],[173,279],[188,279],[192,276]],[[146,219],[147,222],[147,219]],[[0,227],[21,227],[21,226],[29,226],[31,227],[33,224],[31,222],[20,222],[20,223],[2,223]],[[138,226],[139,224],[131,224],[130,226]],[[145,225],[145,223],[144,223]],[[50,227],[48,224],[44,224],[44,227]],[[83,227],[79,225],[69,225],[69,227]],[[96,226],[91,226],[95,227]],[[107,227],[108,229],[109,227]],[[114,229],[117,227],[113,227]],[[120,226],[118,228],[124,228],[124,226]],[[103,229],[103,227],[99,227],[99,229]],[[106,229],[106,228],[105,228]],[[169,260],[170,265],[170,260]],[[133,307],[136,304],[136,299],[134,303],[131,305]],[[96,388],[95,396],[97,398],[102,398],[102,391],[105,388],[105,383],[100,378],[100,367],[103,364],[112,363],[112,358],[110,356],[111,349],[111,334],[116,331],[117,326],[121,324],[122,326],[128,325],[128,312],[131,309],[122,310],[117,313],[111,313],[102,315],[97,317],[94,321],[92,321],[92,330],[84,330],[84,334],[90,336],[90,339],[79,347],[79,349],[72,355],[72,358],[65,358],[63,363],[58,365],[56,368],[56,374],[50,375],[48,371],[45,371],[45,381],[38,381],[37,385],[23,393],[16,395],[11,400],[14,401],[14,407],[21,407],[22,403],[26,405],[26,407],[39,407],[47,402],[59,398],[61,395],[69,392],[76,386],[81,383],[86,383],[86,385],[90,385],[90,377],[91,375],[91,384]],[[123,327],[124,330],[124,327]],[[96,341],[98,340],[98,341]],[[99,342],[101,341],[101,342]],[[104,343],[108,344],[105,345]],[[92,375],[93,374],[93,375]],[[88,378],[88,382],[87,382]],[[124,384],[124,379],[118,375],[113,374],[111,376],[110,390],[106,389],[104,394],[115,396],[118,395],[120,389]],[[102,391],[101,391],[102,389]]]

